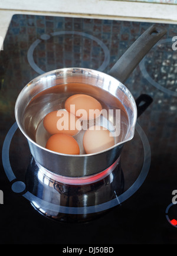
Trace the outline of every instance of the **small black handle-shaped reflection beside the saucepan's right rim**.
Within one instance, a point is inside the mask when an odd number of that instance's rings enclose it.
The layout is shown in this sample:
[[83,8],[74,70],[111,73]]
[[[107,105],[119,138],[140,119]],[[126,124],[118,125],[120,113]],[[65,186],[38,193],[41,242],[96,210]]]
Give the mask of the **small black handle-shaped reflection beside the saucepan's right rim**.
[[137,118],[148,108],[153,99],[148,94],[141,94],[136,99]]

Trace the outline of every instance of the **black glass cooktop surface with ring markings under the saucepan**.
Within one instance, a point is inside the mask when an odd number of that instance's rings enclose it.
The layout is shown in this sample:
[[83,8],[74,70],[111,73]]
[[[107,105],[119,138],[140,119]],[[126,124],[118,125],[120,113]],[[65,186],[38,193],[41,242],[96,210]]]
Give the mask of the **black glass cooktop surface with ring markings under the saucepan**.
[[90,18],[12,17],[0,54],[1,244],[58,244],[61,252],[71,244],[113,248],[120,244],[176,244],[177,25],[157,24],[166,28],[166,35],[125,82],[135,99],[146,94],[153,101],[137,119],[135,137],[124,145],[123,190],[110,200],[103,216],[87,223],[58,222],[32,206],[34,195],[25,180],[30,150],[14,115],[19,92],[34,77],[63,67],[107,73],[150,25]]

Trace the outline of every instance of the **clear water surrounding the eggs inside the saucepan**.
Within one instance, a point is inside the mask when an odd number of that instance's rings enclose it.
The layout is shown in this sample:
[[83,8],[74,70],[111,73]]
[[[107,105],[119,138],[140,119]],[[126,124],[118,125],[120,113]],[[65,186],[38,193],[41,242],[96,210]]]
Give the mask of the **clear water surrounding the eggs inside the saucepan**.
[[[51,135],[44,128],[44,116],[51,111],[64,109],[66,99],[78,93],[90,95],[97,99],[101,103],[104,113],[107,113],[107,116],[101,115],[99,118],[87,121],[87,125],[86,122],[84,124],[83,122],[81,123],[83,129],[74,135],[80,147],[80,154],[86,154],[83,147],[83,135],[86,132],[86,126],[90,127],[93,124],[103,125],[115,135],[115,144],[123,141],[127,134],[129,121],[122,103],[109,92],[86,83],[56,85],[38,93],[24,112],[24,126],[28,136],[38,145],[45,148],[45,144]],[[114,128],[116,128],[116,132]]]

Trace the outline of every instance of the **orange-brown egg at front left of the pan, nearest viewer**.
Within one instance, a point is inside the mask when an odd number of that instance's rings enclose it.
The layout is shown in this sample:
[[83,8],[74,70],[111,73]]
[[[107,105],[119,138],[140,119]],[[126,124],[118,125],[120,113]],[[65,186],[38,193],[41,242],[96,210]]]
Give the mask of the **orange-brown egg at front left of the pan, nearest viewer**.
[[67,134],[53,134],[48,139],[45,148],[62,154],[79,155],[80,148],[77,141]]

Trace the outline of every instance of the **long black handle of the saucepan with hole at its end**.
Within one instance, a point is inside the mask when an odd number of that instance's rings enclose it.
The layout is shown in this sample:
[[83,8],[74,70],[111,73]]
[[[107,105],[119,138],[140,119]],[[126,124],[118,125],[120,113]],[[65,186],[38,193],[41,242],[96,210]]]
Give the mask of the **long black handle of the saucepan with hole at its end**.
[[166,34],[164,28],[152,25],[114,64],[109,74],[124,83],[148,51]]

